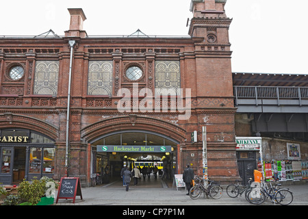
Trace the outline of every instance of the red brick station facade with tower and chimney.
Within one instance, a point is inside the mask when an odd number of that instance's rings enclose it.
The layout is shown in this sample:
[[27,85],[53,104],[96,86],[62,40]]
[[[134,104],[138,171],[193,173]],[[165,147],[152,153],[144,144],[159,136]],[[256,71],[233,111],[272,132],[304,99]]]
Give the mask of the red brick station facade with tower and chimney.
[[[225,1],[192,1],[194,17],[189,35],[179,38],[92,38],[83,29],[86,16],[81,9],[70,9],[70,29],[62,38],[3,38],[0,40],[0,129],[20,127],[33,129],[53,138],[57,147],[55,178],[64,174],[66,148],[66,113],[70,46],[73,47],[70,92],[70,176],[89,180],[90,144],[113,131],[139,129],[155,131],[180,142],[177,146],[177,171],[190,163],[196,174],[203,174],[202,127],[207,127],[208,175],[211,179],[238,179],[235,155],[235,108],[231,74],[231,51],[228,29],[231,19],[224,14]],[[91,22],[91,21],[88,21]],[[89,63],[112,63],[112,90],[108,95],[88,93]],[[59,74],[57,86],[44,81],[56,94],[34,94],[37,64],[55,61]],[[191,112],[187,120],[179,120],[178,110],[168,112],[118,111],[121,88],[133,90],[133,81],[125,77],[129,66],[143,71],[138,89],[155,93],[155,63],[179,63],[181,88],[191,89]],[[53,63],[51,63],[53,64]],[[13,81],[8,77],[11,66],[22,66],[25,75]],[[50,77],[51,78],[51,77]],[[49,83],[49,84],[48,84]],[[133,105],[144,96],[134,96]],[[184,99],[185,100],[185,99]],[[188,103],[188,100],[185,100]],[[198,142],[190,136],[198,131]],[[62,165],[63,166],[63,165]]]

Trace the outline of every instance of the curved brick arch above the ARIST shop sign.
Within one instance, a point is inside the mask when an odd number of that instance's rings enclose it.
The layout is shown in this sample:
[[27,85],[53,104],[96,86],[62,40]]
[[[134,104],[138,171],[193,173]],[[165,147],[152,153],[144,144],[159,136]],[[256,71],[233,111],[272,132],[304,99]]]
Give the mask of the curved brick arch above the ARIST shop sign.
[[53,125],[45,123],[42,120],[37,118],[31,118],[29,116],[21,116],[12,113],[0,114],[0,129],[5,128],[23,128],[31,129],[44,133],[53,140],[57,141],[58,139],[58,129]]

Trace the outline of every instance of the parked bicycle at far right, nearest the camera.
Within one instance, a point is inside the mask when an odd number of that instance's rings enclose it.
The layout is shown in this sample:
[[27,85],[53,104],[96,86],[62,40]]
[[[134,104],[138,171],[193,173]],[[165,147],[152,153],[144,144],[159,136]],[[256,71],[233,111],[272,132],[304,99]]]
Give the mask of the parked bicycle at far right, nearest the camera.
[[259,188],[253,188],[247,193],[248,201],[255,205],[260,205],[266,201],[266,198],[270,198],[272,203],[279,205],[290,205],[293,201],[293,194],[287,188],[279,188],[280,183],[272,185],[271,182],[261,182]]

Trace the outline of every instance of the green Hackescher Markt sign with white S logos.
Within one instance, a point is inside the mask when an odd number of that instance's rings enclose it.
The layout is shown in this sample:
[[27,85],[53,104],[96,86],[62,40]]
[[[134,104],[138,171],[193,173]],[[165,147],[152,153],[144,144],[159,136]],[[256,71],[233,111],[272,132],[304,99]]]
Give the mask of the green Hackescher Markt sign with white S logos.
[[170,153],[171,146],[97,145],[97,152]]

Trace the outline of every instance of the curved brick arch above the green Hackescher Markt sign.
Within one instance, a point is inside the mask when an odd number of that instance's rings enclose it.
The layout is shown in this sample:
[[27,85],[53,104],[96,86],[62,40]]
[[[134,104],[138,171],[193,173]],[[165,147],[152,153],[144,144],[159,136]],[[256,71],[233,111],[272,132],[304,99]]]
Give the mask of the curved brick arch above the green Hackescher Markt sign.
[[81,129],[81,138],[90,142],[107,133],[115,131],[126,131],[129,129],[138,129],[144,131],[153,131],[155,133],[168,136],[178,142],[184,142],[185,130],[177,125],[168,123],[157,118],[148,118],[145,116],[119,116],[115,118],[108,118],[98,123],[94,123]]

